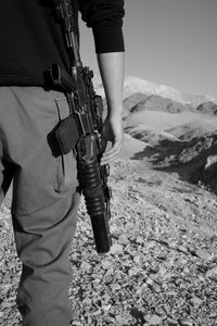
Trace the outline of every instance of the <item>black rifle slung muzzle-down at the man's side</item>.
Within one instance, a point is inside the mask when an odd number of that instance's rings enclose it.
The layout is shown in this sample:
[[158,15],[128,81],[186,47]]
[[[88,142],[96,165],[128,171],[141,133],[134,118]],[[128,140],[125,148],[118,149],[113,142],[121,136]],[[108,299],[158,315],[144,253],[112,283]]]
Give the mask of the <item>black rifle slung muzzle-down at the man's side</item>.
[[110,166],[100,165],[102,98],[95,95],[92,71],[82,66],[80,60],[71,0],[54,0],[54,7],[56,17],[62,23],[71,63],[68,73],[55,63],[50,70],[53,85],[66,95],[71,110],[55,136],[63,154],[71,150],[76,153],[78,180],[91,218],[97,252],[104,253],[112,246],[108,227],[112,192],[107,186]]

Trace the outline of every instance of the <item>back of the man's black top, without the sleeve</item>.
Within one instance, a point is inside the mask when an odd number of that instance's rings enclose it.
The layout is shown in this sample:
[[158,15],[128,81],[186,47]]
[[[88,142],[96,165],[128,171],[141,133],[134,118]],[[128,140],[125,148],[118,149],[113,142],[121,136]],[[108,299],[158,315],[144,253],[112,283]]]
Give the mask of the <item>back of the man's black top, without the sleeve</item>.
[[43,73],[53,62],[62,67],[68,65],[51,3],[38,0],[2,1],[0,85],[43,86]]

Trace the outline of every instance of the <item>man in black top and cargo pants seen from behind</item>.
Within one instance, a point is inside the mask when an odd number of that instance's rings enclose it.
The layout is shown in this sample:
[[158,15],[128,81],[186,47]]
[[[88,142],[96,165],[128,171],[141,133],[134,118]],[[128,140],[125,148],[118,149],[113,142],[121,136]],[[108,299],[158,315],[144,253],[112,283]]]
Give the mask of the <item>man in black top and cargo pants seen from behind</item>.
[[[105,88],[102,165],[117,158],[123,140],[123,2],[72,0],[76,25],[79,9],[92,28]],[[23,263],[17,306],[23,326],[67,326],[77,170],[72,152],[55,158],[49,146],[68,105],[44,76],[52,63],[67,70],[69,61],[51,0],[2,1],[0,28],[0,184],[2,200],[13,179],[12,220]]]

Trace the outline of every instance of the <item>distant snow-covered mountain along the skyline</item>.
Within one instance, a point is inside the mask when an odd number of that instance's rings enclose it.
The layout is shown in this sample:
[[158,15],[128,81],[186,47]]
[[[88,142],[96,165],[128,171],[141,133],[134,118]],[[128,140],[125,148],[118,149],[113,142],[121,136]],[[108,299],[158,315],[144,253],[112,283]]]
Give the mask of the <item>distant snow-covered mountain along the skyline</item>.
[[[95,85],[97,92],[104,97],[102,84]],[[177,102],[190,104],[193,108],[199,106],[204,102],[214,102],[217,104],[217,99],[210,96],[200,96],[181,92],[178,89],[165,85],[157,85],[138,77],[128,76],[124,84],[124,99],[133,93],[157,95],[163,98],[168,98]]]

